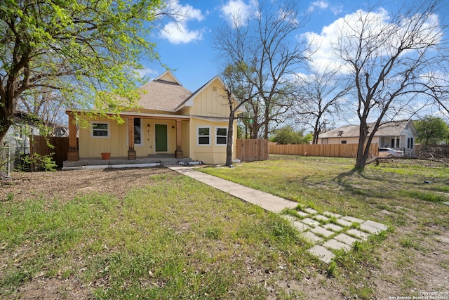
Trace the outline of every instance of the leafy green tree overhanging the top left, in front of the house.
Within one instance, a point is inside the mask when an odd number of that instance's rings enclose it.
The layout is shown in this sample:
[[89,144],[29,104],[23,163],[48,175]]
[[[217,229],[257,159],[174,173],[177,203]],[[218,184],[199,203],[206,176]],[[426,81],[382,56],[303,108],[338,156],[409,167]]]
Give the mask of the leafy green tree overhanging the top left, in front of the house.
[[0,140],[18,98],[36,89],[100,113],[132,106],[140,60],[159,59],[147,37],[164,7],[163,0],[2,1]]

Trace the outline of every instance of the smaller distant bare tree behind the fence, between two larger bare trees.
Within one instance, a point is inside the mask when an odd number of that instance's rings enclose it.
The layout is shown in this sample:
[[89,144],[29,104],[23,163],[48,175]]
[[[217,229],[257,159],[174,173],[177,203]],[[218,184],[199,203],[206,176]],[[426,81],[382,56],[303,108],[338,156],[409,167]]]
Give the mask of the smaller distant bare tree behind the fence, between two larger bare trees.
[[296,119],[314,129],[313,144],[325,128],[327,119],[340,113],[341,100],[349,93],[351,86],[339,78],[337,70],[297,75]]

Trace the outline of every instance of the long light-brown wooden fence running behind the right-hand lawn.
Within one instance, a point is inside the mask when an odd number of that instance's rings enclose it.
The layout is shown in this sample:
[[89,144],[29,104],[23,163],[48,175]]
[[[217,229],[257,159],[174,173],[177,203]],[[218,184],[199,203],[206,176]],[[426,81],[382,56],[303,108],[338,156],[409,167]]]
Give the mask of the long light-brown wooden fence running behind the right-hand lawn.
[[[358,144],[325,144],[325,145],[269,145],[270,154],[324,156],[324,157],[356,157]],[[378,155],[377,143],[370,146],[370,155]]]

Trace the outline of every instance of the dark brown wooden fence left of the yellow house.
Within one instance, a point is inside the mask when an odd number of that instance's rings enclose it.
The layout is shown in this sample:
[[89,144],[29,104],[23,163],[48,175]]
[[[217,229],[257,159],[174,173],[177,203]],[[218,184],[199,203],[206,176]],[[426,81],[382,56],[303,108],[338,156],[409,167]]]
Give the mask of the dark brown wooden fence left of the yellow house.
[[[53,161],[58,164],[58,167],[62,167],[62,162],[67,160],[67,152],[69,151],[69,138],[51,137],[45,136],[30,136],[29,139],[29,153],[39,155],[49,155],[53,153]],[[54,146],[54,148],[48,147],[48,143]]]

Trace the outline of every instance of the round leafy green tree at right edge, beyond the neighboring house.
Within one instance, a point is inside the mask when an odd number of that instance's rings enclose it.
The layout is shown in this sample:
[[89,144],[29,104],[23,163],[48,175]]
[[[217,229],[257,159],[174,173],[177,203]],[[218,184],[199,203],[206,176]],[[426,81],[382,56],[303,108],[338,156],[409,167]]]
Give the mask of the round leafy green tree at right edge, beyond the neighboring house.
[[427,115],[415,121],[418,141],[423,145],[436,145],[441,141],[446,141],[449,136],[448,124],[440,117]]

